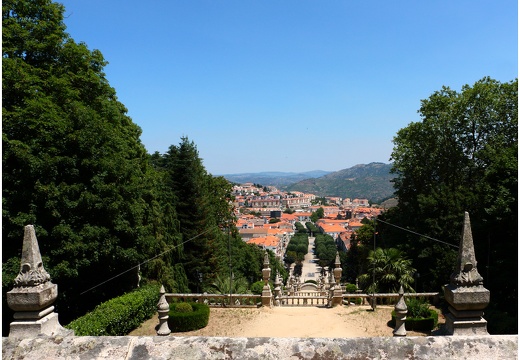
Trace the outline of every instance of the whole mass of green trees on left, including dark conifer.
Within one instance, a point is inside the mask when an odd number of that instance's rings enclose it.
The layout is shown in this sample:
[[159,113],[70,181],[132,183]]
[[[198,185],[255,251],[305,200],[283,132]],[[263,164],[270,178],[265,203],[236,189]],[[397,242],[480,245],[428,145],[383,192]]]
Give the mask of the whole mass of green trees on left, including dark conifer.
[[[135,288],[138,275],[171,292],[260,280],[264,252],[238,235],[231,184],[206,171],[187,137],[147,153],[106,60],[65,32],[63,14],[50,0],[2,4],[4,334],[27,224],[59,284],[62,324]],[[273,277],[286,276],[270,259]]]

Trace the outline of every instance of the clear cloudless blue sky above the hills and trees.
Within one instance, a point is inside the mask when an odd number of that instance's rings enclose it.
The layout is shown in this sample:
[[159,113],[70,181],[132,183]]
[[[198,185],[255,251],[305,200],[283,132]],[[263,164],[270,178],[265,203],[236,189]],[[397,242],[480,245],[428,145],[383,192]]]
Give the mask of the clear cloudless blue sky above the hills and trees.
[[516,0],[59,2],[148,152],[214,175],[388,163],[421,99],[518,76]]

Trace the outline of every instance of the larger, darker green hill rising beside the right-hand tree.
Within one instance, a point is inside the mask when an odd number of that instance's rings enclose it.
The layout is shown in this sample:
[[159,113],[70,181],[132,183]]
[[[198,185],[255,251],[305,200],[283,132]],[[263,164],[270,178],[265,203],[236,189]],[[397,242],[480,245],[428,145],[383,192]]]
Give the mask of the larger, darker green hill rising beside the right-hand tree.
[[394,188],[390,182],[391,164],[370,163],[329,173],[319,178],[305,179],[287,186],[288,191],[313,193],[318,196],[364,198],[374,203],[391,197]]

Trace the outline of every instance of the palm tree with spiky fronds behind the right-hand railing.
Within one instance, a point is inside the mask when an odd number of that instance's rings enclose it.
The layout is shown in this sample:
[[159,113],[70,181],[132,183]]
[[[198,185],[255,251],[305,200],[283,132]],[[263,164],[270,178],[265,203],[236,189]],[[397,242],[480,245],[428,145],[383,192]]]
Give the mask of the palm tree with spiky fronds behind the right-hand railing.
[[377,248],[370,251],[367,260],[368,271],[359,276],[367,293],[396,293],[401,285],[405,291],[414,291],[411,285],[416,270],[400,250]]

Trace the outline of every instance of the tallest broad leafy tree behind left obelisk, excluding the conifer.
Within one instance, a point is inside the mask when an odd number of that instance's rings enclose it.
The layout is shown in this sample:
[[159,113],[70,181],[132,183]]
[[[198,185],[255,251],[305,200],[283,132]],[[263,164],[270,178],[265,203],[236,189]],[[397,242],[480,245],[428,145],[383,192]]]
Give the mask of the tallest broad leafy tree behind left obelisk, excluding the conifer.
[[2,4],[2,262],[5,292],[23,227],[34,224],[67,323],[135,286],[135,271],[97,285],[161,253],[175,233],[140,128],[101,52],[70,38],[63,12],[49,0]]

